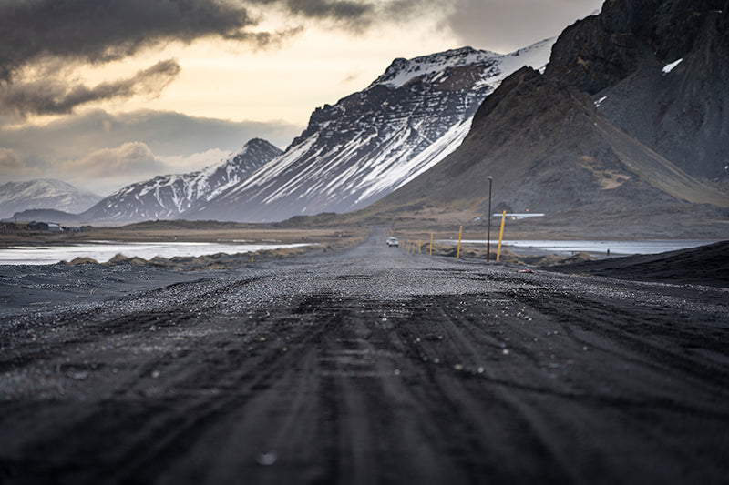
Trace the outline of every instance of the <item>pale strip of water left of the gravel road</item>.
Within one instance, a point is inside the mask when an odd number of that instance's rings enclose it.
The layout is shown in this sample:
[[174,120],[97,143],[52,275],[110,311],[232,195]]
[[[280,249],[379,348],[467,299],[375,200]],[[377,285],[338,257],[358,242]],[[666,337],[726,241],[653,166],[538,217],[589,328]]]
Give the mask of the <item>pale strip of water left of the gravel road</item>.
[[236,244],[195,242],[115,243],[97,241],[69,246],[16,246],[0,249],[0,265],[47,265],[73,258],[93,258],[107,262],[118,254],[127,258],[151,259],[156,256],[198,257],[217,253],[247,253],[264,249],[300,248],[308,244]]

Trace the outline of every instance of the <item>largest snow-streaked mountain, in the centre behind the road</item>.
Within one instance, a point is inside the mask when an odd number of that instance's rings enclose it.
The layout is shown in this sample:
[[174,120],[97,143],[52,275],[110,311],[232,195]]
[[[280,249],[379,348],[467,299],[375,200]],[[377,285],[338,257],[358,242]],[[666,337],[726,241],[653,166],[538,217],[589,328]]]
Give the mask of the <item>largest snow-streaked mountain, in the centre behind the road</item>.
[[255,222],[364,207],[453,152],[484,98],[519,67],[545,66],[553,42],[395,59],[363,91],[317,108],[280,157],[183,217]]

